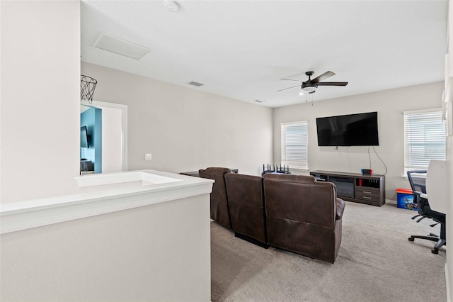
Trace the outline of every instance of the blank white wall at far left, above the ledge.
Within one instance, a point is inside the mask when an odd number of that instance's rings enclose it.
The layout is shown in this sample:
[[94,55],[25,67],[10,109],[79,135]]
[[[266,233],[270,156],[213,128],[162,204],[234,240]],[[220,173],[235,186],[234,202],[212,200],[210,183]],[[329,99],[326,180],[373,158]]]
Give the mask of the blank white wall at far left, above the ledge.
[[0,201],[61,195],[79,174],[80,3],[0,6]]

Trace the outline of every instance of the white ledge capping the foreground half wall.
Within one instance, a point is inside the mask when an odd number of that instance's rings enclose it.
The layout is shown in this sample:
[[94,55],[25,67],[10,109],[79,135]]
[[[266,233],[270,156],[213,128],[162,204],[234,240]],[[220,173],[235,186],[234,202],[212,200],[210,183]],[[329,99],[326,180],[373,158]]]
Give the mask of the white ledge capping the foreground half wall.
[[210,194],[212,179],[154,170],[88,174],[68,195],[3,203],[0,234]]

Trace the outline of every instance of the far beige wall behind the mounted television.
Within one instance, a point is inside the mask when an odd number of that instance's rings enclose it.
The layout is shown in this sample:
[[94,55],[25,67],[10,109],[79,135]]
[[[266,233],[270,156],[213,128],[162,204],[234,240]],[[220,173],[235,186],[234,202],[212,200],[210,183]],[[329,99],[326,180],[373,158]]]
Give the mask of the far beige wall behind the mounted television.
[[[279,162],[281,158],[280,123],[308,121],[309,170],[360,173],[360,169],[369,168],[368,147],[338,147],[338,150],[336,147],[319,147],[316,118],[377,111],[379,146],[374,148],[388,169],[386,199],[396,201],[396,189],[410,188],[408,180],[402,177],[404,173],[403,111],[440,108],[443,85],[443,82],[423,84],[275,108],[273,113],[275,162]],[[384,164],[372,147],[370,154],[373,172],[384,174]],[[308,172],[301,172],[301,174],[308,174]]]

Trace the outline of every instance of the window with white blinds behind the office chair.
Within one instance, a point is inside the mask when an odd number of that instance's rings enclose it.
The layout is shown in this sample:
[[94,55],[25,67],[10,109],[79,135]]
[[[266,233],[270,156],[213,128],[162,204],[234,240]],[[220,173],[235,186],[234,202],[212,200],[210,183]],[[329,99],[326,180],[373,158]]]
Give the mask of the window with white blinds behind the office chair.
[[404,115],[404,172],[428,169],[430,160],[445,160],[447,128],[442,109],[406,111]]

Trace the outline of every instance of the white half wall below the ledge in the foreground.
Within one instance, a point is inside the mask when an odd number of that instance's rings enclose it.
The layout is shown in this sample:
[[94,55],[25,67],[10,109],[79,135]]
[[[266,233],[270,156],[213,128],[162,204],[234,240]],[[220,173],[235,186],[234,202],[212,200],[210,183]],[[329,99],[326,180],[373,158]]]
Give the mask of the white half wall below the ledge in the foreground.
[[209,216],[202,194],[2,234],[0,300],[210,301]]

